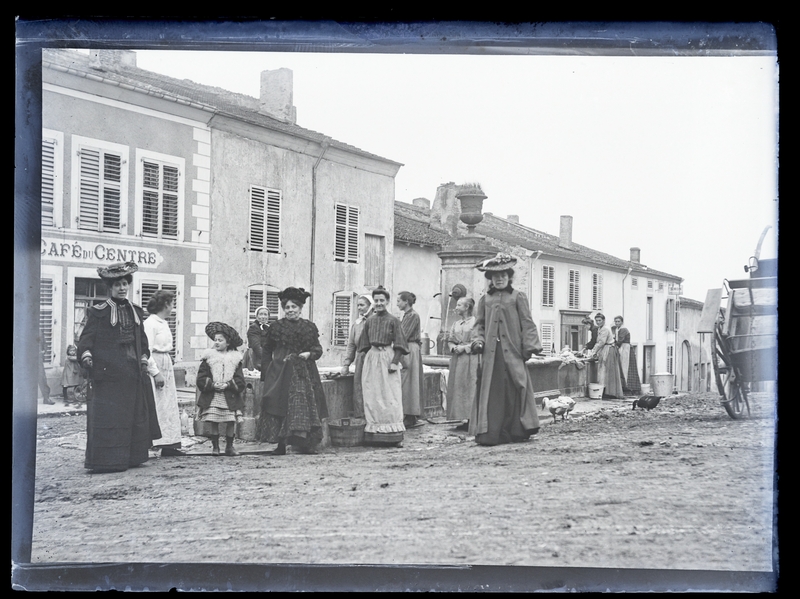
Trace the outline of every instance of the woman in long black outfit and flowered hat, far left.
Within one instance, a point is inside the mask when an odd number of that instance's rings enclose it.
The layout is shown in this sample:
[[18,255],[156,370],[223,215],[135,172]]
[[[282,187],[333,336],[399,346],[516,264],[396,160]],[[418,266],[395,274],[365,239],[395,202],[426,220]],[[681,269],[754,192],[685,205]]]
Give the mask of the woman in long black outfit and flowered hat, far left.
[[89,373],[86,404],[86,459],[95,472],[122,472],[147,461],[161,437],[147,376],[150,350],[144,311],[128,300],[134,262],[98,268],[110,297],[86,313],[78,356]]

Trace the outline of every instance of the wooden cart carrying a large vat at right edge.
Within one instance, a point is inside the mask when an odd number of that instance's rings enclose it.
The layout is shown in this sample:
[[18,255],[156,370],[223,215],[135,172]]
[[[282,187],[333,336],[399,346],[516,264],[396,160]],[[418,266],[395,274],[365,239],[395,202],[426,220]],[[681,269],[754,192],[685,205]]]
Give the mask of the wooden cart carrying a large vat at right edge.
[[766,231],[756,256],[745,266],[749,278],[724,280],[723,288],[708,290],[698,329],[712,334],[711,361],[720,401],[735,419],[750,414],[751,383],[778,378],[777,260],[758,259]]

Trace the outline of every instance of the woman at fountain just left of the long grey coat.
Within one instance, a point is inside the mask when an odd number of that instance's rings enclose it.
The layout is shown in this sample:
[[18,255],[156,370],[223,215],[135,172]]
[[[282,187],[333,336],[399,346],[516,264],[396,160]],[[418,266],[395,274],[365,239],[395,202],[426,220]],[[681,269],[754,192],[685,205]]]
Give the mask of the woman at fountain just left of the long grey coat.
[[475,300],[462,297],[456,302],[457,320],[447,335],[450,370],[447,375],[447,419],[461,420],[456,428],[468,430],[472,404],[477,393],[481,357],[472,353],[472,328],[475,326]]

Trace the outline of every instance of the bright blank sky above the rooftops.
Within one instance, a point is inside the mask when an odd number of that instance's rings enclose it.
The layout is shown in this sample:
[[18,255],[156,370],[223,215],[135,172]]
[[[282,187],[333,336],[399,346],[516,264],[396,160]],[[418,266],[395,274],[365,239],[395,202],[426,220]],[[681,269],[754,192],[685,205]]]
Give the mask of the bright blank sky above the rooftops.
[[704,300],[773,225],[775,57],[139,51],[138,66],[258,97],[294,73],[297,124],[401,162],[395,197],[479,182],[484,210],[683,277]]

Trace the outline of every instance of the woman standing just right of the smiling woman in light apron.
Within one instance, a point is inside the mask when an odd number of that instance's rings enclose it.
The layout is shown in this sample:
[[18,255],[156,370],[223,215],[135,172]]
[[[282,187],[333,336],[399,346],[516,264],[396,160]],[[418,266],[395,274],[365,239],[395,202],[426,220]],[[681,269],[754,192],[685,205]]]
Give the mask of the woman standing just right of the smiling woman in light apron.
[[397,307],[403,313],[400,326],[408,346],[403,356],[400,374],[403,385],[403,424],[407,429],[425,424],[420,419],[423,413],[422,337],[419,314],[414,310],[417,296],[410,291],[397,294]]

